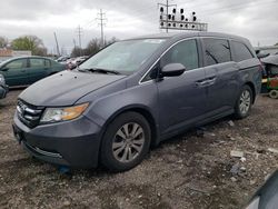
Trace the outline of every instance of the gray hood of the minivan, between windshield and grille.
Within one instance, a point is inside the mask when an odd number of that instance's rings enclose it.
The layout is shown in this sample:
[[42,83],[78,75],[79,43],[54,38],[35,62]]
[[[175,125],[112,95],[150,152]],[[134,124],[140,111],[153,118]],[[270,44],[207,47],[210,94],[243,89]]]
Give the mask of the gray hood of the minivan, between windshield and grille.
[[33,106],[72,106],[85,94],[125,77],[62,71],[33,83],[19,98]]

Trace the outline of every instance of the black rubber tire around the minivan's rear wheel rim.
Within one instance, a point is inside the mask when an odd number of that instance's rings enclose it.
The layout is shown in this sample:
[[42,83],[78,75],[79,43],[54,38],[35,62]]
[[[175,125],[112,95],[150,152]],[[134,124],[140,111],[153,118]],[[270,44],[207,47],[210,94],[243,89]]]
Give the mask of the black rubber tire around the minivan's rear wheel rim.
[[[244,111],[242,108],[240,108],[240,107],[242,107],[241,106],[242,104],[242,97],[244,97],[244,93],[246,93],[246,92],[248,92],[250,100],[249,100],[248,108],[246,104],[246,109]],[[235,118],[236,119],[244,119],[244,118],[249,116],[251,107],[252,107],[252,98],[254,98],[254,96],[252,96],[251,88],[249,86],[245,84],[239,92],[239,96],[237,98],[237,102],[235,106]]]

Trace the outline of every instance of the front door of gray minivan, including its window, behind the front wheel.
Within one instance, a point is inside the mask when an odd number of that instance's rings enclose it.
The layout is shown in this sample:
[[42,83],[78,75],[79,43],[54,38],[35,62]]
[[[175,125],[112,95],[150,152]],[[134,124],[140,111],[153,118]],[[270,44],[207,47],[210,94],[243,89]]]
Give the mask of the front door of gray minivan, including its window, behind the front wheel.
[[160,132],[170,133],[192,125],[206,113],[205,70],[199,68],[197,40],[175,44],[160,60],[160,69],[168,63],[182,63],[186,71],[179,77],[157,82],[159,92]]

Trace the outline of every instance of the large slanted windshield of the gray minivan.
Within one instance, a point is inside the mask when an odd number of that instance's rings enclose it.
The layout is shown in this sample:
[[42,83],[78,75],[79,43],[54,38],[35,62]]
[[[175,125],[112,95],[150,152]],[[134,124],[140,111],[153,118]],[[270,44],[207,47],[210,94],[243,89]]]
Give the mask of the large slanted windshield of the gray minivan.
[[109,70],[131,74],[139,70],[163,41],[165,39],[139,39],[116,42],[80,64],[79,70]]

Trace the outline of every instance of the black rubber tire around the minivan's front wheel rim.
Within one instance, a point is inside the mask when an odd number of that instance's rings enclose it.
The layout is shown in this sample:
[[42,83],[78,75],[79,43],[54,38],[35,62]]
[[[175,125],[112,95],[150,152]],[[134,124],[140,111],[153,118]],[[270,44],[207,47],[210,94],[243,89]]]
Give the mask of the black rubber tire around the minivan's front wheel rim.
[[[127,145],[127,140],[130,139],[123,139],[120,136],[122,135],[118,135],[118,132],[120,131],[120,133],[126,135],[126,130],[125,127],[128,127],[128,129],[135,129],[135,127],[132,127],[132,125],[135,126],[139,126],[139,128],[136,128],[136,130],[142,130],[142,133],[140,135],[140,140],[138,139],[131,139],[131,142],[133,145],[132,141],[141,141],[142,138],[143,139],[143,143],[140,145],[141,147],[141,151],[138,152],[137,155],[135,155],[135,159],[131,159],[131,161],[121,161],[122,159],[117,159],[119,158],[119,156],[122,153],[121,158],[125,158],[125,151],[126,149],[130,149],[130,152],[128,151],[128,157],[132,156],[131,155],[131,150],[133,152],[137,152],[137,149],[132,148],[132,145]],[[131,126],[131,127],[130,127]],[[139,132],[138,131],[138,132]],[[129,132],[129,131],[128,131]],[[132,132],[132,131],[131,131]],[[137,132],[137,131],[136,131]],[[135,136],[135,135],[133,135]],[[120,140],[118,142],[116,142],[116,140]],[[141,116],[140,113],[137,112],[125,112],[120,116],[118,116],[108,127],[107,130],[103,135],[102,138],[102,142],[101,142],[101,149],[100,149],[100,162],[101,165],[107,168],[110,171],[115,171],[115,172],[119,172],[119,171],[126,171],[129,170],[133,167],[136,167],[137,165],[139,165],[143,158],[146,157],[146,155],[149,151],[150,148],[150,140],[151,140],[151,130],[150,130],[150,126],[148,123],[148,121],[145,119],[143,116]],[[113,145],[116,143],[125,143],[125,149],[122,149],[121,152],[116,153],[117,149],[120,150],[123,146],[120,146],[120,148],[116,148],[113,149]],[[141,142],[140,142],[141,143]],[[129,147],[129,148],[127,148]]]

